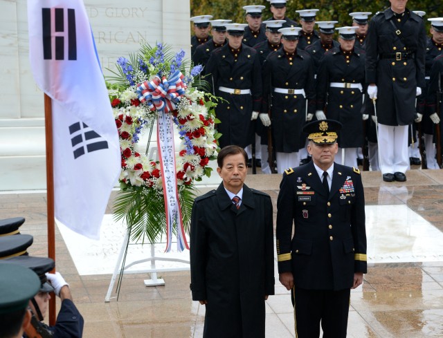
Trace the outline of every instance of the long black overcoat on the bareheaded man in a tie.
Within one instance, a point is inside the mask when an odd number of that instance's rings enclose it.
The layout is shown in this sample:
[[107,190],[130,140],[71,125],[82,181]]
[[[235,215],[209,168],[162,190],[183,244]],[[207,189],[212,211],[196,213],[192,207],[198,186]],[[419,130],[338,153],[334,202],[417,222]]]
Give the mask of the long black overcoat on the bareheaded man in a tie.
[[206,304],[206,338],[264,338],[264,296],[274,294],[269,195],[243,186],[239,209],[223,183],[195,199],[190,229],[192,299]]

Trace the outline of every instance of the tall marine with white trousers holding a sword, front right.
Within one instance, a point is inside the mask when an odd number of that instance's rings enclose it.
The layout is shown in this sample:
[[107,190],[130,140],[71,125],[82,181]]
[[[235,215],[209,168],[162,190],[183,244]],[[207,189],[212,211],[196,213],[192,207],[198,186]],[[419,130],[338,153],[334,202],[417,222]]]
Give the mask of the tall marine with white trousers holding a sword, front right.
[[372,17],[366,38],[366,82],[375,100],[383,180],[406,181],[408,126],[415,120],[415,100],[424,88],[426,32],[421,17],[406,0]]

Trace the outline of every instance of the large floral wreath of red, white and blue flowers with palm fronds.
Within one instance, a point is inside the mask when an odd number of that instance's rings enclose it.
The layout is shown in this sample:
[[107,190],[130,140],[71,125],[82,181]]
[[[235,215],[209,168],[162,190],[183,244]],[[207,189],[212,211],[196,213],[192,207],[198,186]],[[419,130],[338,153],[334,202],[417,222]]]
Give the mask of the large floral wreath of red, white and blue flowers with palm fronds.
[[[172,232],[179,243],[180,233],[184,237],[188,229],[196,196],[194,182],[210,176],[213,169],[208,163],[217,158],[217,140],[221,136],[215,130],[215,123],[219,123],[215,118],[218,98],[201,91],[207,87],[199,78],[202,67],[186,71],[184,55],[183,50],[171,53],[170,47],[163,44],[142,45],[129,59],[120,57],[117,60],[117,71],[109,70],[114,73],[108,77],[112,84],[107,82],[120,140],[122,167],[114,218],[125,220],[136,241],[144,242],[145,237],[150,243],[161,241],[166,230],[166,251],[170,250]],[[171,114],[167,118],[172,119],[181,140],[175,156],[174,178],[182,229],[166,226],[170,220],[168,205],[165,205],[163,163],[147,156],[152,129],[160,113]],[[136,151],[136,144],[144,131],[149,131],[150,136],[146,153],[140,153]],[[179,223],[179,220],[171,223]],[[180,251],[188,247],[186,238],[183,240]]]

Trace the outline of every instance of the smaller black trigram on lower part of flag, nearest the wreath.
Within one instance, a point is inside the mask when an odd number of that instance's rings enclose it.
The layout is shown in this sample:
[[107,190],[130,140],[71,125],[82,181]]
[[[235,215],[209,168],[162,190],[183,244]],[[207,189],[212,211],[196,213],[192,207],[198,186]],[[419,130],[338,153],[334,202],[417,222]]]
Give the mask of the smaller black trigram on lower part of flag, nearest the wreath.
[[71,134],[74,158],[79,158],[85,153],[91,153],[91,151],[109,148],[108,142],[96,140],[102,139],[102,137],[95,131],[91,130],[91,128],[89,128],[89,126],[83,122],[71,124],[71,126],[69,126],[69,133]]

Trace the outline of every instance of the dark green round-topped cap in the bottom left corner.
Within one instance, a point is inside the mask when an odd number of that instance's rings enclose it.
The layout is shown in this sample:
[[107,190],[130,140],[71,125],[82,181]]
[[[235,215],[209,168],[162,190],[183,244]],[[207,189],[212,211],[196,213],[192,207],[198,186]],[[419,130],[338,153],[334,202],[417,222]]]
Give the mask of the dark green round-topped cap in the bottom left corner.
[[27,267],[0,262],[0,314],[26,308],[39,287],[35,272]]

